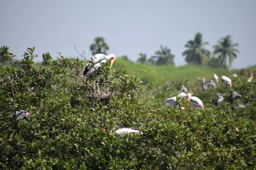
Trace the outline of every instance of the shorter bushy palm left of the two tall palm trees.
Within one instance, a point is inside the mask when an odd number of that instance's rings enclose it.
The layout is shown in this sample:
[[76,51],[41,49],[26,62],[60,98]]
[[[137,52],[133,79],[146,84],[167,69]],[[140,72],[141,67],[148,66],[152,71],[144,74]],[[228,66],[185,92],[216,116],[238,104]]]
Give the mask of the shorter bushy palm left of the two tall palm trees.
[[175,65],[173,58],[175,57],[171,54],[171,50],[167,47],[160,45],[160,50],[155,52],[156,56],[151,56],[149,59],[150,62],[155,63],[156,65]]

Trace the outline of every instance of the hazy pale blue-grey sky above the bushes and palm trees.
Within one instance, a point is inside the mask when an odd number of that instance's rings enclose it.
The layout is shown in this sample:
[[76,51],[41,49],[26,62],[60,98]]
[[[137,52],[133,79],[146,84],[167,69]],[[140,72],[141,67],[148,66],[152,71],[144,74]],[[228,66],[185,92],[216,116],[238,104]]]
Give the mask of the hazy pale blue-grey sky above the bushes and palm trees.
[[233,68],[256,64],[256,0],[0,0],[0,45],[21,59],[27,47],[52,57],[91,57],[90,44],[105,37],[117,57],[154,54],[161,45],[171,49],[175,64],[184,65],[182,52],[199,31],[207,49],[228,34],[239,43]]

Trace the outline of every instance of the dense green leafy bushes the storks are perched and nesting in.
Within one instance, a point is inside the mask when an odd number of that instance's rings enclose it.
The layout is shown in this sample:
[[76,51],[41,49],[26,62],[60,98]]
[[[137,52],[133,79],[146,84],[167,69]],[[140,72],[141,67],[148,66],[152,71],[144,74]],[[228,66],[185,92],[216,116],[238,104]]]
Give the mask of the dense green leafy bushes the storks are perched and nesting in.
[[[143,87],[134,72],[149,74],[146,65],[129,74],[122,67],[110,70],[107,63],[96,77],[99,95],[91,93],[95,75],[81,76],[85,63],[79,59],[51,60],[45,53],[42,67],[37,68],[34,48],[24,53],[20,67],[15,67],[8,48],[0,56],[0,62],[11,63],[0,66],[1,169],[256,168],[256,80],[247,82],[255,68],[238,71],[224,93],[222,83],[216,89],[199,90],[200,83],[189,79],[196,77],[189,71],[185,79],[170,77],[153,89],[153,83]],[[185,112],[166,108],[164,99],[176,96],[181,85],[202,99],[204,110],[194,109],[184,99],[180,107],[186,107]],[[236,103],[247,103],[245,108],[228,102],[232,91],[242,94]],[[218,107],[213,104],[217,93],[225,99]],[[12,113],[20,110],[31,116],[17,121]],[[113,133],[121,127],[138,128],[143,135]]]

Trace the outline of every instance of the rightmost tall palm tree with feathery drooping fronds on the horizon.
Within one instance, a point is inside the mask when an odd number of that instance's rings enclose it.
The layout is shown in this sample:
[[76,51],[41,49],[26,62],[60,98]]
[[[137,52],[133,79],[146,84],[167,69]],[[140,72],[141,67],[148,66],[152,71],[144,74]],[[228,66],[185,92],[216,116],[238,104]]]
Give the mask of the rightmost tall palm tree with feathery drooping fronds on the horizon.
[[238,45],[238,43],[232,44],[230,35],[218,40],[217,45],[213,45],[213,54],[218,54],[218,62],[224,65],[224,68],[227,67],[227,59],[229,66],[231,66],[234,58],[236,58],[236,53],[239,53],[239,51],[234,47],[237,47]]

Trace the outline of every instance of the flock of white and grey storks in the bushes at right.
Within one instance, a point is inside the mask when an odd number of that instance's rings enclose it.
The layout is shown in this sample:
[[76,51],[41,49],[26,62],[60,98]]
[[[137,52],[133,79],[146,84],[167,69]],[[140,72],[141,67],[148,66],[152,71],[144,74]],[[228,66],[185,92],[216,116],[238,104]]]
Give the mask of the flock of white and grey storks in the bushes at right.
[[[233,77],[237,77],[236,74],[233,74],[232,75]],[[219,81],[218,81],[218,76],[216,74],[213,74],[213,78],[215,80],[215,82],[218,84]],[[251,74],[251,76],[247,79],[247,82],[251,82],[253,79],[253,73]],[[212,81],[212,80],[209,80],[209,82],[207,83],[207,80],[205,78],[197,78],[198,81],[201,80],[201,87],[200,89],[203,90],[203,91],[207,91],[208,90],[208,87],[213,87],[213,88],[216,88],[216,85],[215,85],[215,82]],[[226,86],[225,86],[225,91],[227,92],[227,87],[232,87],[232,81],[229,77],[227,76],[222,76],[221,77],[221,82],[224,83]],[[166,106],[167,107],[175,107],[175,108],[178,108],[179,107],[179,103],[177,101],[177,97],[180,97],[180,99],[182,98],[186,98],[186,102],[189,102],[191,105],[193,105],[195,108],[198,108],[198,109],[204,109],[204,104],[203,102],[201,101],[201,99],[199,99],[198,97],[196,96],[192,96],[191,93],[188,93],[188,89],[182,85],[181,89],[180,89],[181,93],[178,94],[177,96],[173,96],[173,97],[169,97],[167,99],[165,99],[165,103],[166,103]],[[236,91],[233,91],[231,94],[230,94],[230,97],[229,97],[229,101],[231,103],[234,102],[235,99],[237,98],[241,98],[241,94],[238,94]],[[214,104],[215,105],[219,105],[221,102],[224,101],[224,97],[221,96],[220,94],[217,94],[217,99],[215,99],[215,102]],[[244,108],[245,105],[242,105],[242,104],[237,104],[237,106],[239,108]],[[181,107],[181,109],[183,111],[185,111],[186,109],[184,107]]]

